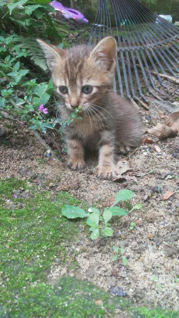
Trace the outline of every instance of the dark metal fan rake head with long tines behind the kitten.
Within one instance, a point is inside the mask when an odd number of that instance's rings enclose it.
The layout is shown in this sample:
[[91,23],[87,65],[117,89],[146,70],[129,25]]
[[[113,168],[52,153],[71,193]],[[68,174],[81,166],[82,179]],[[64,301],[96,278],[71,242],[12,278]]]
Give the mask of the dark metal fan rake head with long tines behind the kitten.
[[167,80],[179,84],[179,27],[139,0],[98,0],[89,44],[107,35],[114,36],[118,45],[114,89],[145,108],[150,100],[147,91],[158,100],[169,98]]

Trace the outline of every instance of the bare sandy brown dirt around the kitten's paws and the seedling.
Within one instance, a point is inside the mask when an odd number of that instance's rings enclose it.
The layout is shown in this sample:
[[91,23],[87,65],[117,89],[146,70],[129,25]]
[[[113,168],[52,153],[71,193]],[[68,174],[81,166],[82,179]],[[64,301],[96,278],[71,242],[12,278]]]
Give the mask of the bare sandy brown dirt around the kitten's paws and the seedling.
[[[146,126],[150,126],[147,112],[141,111]],[[147,118],[147,119],[146,119]],[[39,140],[25,126],[1,119],[0,178],[27,179],[52,195],[68,191],[89,206],[110,206],[121,188],[134,192],[132,204],[143,203],[141,210],[133,210],[112,224],[111,239],[91,241],[84,226],[77,242],[68,248],[76,255],[77,267],[51,267],[49,281],[69,274],[89,280],[108,291],[122,287],[132,302],[148,306],[179,309],[179,136],[142,145],[127,160],[134,180],[114,182],[100,180],[93,175],[97,157],[88,154],[87,166],[74,172],[66,167],[64,144],[52,132],[42,135],[45,142],[58,151],[59,161],[47,157]],[[158,146],[161,151],[155,149]],[[117,160],[126,159],[125,155]],[[172,195],[164,200],[167,191]],[[132,230],[130,224],[136,225]],[[111,245],[123,246],[128,265],[111,262]]]

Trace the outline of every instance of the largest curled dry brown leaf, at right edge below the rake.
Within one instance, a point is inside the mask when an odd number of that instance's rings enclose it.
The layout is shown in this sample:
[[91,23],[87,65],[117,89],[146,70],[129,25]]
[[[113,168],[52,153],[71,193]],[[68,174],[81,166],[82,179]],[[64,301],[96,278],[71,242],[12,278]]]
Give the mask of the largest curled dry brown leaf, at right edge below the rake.
[[155,127],[149,129],[148,132],[159,139],[177,135],[179,132],[179,111],[169,114],[168,117],[169,121],[166,124],[158,123]]

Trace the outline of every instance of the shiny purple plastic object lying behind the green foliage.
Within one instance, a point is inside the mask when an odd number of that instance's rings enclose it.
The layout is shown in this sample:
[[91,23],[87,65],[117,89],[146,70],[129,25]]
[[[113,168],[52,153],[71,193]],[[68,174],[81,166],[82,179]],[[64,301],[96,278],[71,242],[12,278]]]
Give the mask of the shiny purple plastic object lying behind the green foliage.
[[67,19],[74,19],[77,22],[88,23],[89,21],[83,16],[82,13],[75,9],[64,7],[60,2],[54,0],[50,2],[50,5],[55,9],[61,12],[61,14]]

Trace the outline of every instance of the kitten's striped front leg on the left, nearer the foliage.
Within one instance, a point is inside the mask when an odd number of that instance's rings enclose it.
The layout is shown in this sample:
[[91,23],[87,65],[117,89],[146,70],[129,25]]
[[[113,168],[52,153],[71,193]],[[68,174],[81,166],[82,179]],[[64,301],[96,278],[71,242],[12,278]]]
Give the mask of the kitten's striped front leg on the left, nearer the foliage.
[[81,170],[85,167],[84,148],[79,139],[67,138],[68,162],[67,166],[72,170]]

